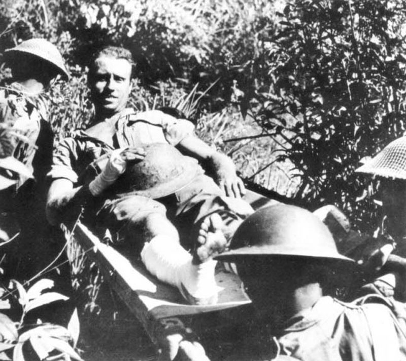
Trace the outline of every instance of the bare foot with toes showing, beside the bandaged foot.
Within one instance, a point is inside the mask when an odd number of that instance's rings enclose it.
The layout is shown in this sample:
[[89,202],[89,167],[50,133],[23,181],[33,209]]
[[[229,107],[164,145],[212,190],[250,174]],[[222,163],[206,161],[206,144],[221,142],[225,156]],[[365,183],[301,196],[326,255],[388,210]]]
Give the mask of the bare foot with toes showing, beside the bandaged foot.
[[194,264],[206,262],[225,250],[227,240],[221,230],[223,227],[223,220],[217,213],[204,219],[197,236],[197,246],[193,255]]

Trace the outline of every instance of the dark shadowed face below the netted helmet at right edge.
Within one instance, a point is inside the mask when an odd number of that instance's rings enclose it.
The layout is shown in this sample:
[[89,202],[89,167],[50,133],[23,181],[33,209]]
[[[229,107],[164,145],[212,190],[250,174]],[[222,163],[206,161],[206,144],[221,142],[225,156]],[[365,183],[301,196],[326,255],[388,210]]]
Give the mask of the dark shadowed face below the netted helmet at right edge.
[[388,232],[392,237],[406,236],[406,180],[383,179],[380,191]]

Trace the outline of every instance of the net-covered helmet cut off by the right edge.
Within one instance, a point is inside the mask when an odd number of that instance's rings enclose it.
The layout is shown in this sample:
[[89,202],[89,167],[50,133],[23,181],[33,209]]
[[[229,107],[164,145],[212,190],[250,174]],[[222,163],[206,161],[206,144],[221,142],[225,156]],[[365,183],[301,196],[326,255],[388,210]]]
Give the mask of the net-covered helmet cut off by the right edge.
[[355,170],[386,178],[406,179],[406,136],[395,139]]

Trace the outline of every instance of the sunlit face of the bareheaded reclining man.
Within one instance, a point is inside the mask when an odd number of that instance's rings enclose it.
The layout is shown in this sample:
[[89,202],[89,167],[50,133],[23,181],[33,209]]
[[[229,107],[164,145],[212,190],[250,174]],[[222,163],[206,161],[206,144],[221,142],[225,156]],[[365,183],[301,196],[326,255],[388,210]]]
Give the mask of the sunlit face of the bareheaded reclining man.
[[89,75],[90,97],[96,113],[114,115],[125,109],[131,91],[131,64],[101,56]]

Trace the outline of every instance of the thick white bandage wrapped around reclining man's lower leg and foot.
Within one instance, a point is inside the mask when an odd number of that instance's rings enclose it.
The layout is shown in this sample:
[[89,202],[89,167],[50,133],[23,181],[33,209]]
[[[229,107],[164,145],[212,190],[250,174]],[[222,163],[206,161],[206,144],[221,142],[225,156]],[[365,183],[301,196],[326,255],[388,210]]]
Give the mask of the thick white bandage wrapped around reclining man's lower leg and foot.
[[214,277],[217,261],[192,264],[191,254],[166,235],[157,235],[146,243],[141,251],[141,259],[149,272],[177,287],[190,303],[217,302],[220,289]]

